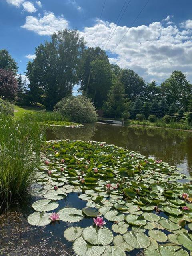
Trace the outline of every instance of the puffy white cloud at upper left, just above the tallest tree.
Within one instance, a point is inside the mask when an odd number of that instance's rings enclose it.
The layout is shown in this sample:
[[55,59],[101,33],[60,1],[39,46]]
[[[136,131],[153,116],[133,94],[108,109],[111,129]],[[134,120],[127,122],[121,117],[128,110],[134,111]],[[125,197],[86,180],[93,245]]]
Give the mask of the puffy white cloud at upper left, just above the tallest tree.
[[50,36],[58,30],[68,28],[69,22],[63,16],[56,17],[53,12],[45,12],[44,16],[27,16],[26,22],[22,28],[33,31],[40,36]]

